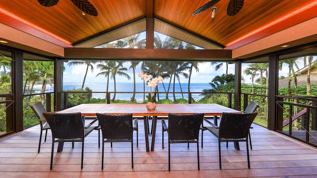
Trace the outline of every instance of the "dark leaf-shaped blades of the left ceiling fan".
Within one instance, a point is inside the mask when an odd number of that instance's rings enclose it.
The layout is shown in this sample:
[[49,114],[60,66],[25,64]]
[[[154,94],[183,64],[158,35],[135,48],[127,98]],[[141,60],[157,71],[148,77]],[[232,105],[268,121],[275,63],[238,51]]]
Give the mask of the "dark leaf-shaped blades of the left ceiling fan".
[[[59,0],[38,0],[41,5],[46,7],[51,7],[56,5]],[[97,16],[98,12],[93,4],[91,4],[88,0],[71,0],[81,11],[86,14]]]

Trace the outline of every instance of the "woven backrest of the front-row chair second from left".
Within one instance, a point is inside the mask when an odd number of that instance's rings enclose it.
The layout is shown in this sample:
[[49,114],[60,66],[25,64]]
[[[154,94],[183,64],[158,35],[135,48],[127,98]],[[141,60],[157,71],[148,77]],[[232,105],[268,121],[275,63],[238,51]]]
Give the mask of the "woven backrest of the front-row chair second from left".
[[132,114],[108,115],[97,113],[97,118],[106,139],[133,139]]

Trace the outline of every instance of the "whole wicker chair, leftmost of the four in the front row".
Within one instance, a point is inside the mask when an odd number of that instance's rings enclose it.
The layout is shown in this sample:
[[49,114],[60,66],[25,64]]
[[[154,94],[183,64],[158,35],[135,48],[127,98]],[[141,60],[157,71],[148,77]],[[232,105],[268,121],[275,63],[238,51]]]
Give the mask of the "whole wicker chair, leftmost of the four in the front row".
[[82,142],[81,169],[83,169],[85,137],[96,129],[97,126],[92,126],[92,124],[95,123],[97,119],[84,126],[81,113],[43,113],[43,115],[51,126],[53,136],[50,169],[52,170],[53,168],[53,153],[55,142]]

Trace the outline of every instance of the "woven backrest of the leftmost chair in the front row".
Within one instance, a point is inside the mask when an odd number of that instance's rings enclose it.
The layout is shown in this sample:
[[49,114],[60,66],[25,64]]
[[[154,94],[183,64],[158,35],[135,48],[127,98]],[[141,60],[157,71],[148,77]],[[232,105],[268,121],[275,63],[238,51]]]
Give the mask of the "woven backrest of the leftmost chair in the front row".
[[43,113],[43,115],[51,126],[53,138],[84,138],[84,126],[81,113]]

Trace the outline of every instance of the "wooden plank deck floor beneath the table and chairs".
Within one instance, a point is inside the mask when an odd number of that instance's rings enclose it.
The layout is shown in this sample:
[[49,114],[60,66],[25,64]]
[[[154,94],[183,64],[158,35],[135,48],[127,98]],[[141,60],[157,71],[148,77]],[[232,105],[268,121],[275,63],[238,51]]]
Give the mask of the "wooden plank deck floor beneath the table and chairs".
[[[253,124],[251,129],[253,150],[250,150],[251,169],[247,166],[245,143],[241,150],[221,144],[222,170],[219,170],[217,139],[204,132],[204,148],[200,151],[200,171],[197,170],[196,145],[171,145],[171,172],[168,172],[168,144],[161,148],[161,124],[154,152],[146,152],[143,120],[139,120],[139,148],[134,141],[134,169],[131,169],[129,143],[106,144],[105,167],[101,170],[102,149],[98,148],[98,132],[93,131],[85,140],[84,168],[80,169],[81,144],[64,144],[61,153],[54,153],[50,171],[52,137],[42,140],[37,153],[40,126],[28,128],[14,136],[0,140],[1,178],[316,178],[317,149],[286,138]],[[136,132],[134,132],[136,137]],[[167,138],[167,134],[165,134]],[[136,139],[134,139],[136,140]],[[151,140],[151,138],[150,138]],[[55,150],[57,144],[55,144]]]

